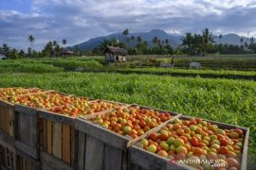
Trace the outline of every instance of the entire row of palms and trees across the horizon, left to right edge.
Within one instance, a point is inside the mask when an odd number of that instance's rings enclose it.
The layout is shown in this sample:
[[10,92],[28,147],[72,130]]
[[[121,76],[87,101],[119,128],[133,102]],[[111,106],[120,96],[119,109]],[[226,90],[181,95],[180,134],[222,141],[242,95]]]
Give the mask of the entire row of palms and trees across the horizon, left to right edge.
[[[154,37],[151,42],[143,40],[140,36],[129,36],[129,29],[123,30],[122,35],[124,40],[119,38],[105,39],[97,47],[90,51],[81,51],[79,46],[76,45],[72,50],[75,54],[83,55],[103,55],[103,51],[106,46],[117,46],[125,48],[129,55],[178,55],[187,54],[188,56],[206,56],[208,54],[248,54],[256,53],[256,43],[252,37],[249,41],[240,39],[240,45],[228,44],[228,43],[215,43],[214,37],[209,28],[202,30],[201,34],[192,34],[191,32],[185,33],[185,36],[181,38],[182,44],[174,48],[170,40],[161,40],[158,37]],[[219,35],[218,39],[222,40],[222,35]],[[30,46],[27,48],[27,52],[24,50],[18,50],[10,48],[7,43],[4,43],[0,47],[0,54],[5,55],[9,59],[19,58],[40,58],[40,57],[61,57],[65,48],[66,40],[62,41],[62,45],[57,41],[49,41],[41,51],[33,49],[33,43],[36,41],[35,37],[29,35],[27,41]],[[149,44],[150,43],[150,44]]]

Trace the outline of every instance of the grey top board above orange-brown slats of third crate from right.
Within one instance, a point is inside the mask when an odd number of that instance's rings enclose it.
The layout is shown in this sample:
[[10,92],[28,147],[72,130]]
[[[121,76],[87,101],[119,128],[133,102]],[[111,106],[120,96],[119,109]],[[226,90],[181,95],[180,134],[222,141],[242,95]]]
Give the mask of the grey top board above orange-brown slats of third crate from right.
[[51,120],[52,122],[58,122],[58,123],[74,126],[73,117],[65,116],[63,114],[58,114],[56,112],[50,112],[46,110],[39,110],[38,113],[40,118]]

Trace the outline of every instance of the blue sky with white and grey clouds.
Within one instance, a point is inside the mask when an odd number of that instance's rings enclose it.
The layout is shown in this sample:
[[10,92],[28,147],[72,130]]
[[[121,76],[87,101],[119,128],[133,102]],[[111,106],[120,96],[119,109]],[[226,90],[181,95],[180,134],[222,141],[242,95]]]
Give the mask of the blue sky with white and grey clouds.
[[122,32],[236,33],[256,37],[256,0],[0,0],[0,45],[27,49],[66,45]]

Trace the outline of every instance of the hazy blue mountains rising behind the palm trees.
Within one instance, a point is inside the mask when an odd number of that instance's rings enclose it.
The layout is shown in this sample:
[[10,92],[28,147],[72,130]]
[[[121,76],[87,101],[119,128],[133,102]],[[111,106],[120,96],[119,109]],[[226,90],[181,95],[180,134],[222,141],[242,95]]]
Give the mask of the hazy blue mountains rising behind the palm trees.
[[[166,39],[169,41],[169,43],[171,43],[174,47],[180,45],[181,42],[181,38],[182,36],[176,36],[176,35],[170,35],[167,34],[165,31],[160,30],[160,29],[153,29],[150,32],[137,32],[137,33],[129,33],[128,36],[124,36],[122,35],[122,33],[116,33],[116,34],[111,34],[108,36],[102,36],[102,37],[97,37],[97,38],[93,38],[90,39],[87,42],[82,42],[79,43],[78,46],[82,51],[85,50],[92,50],[95,47],[97,47],[104,39],[112,39],[112,38],[118,38],[120,41],[122,42],[126,42],[127,37],[131,38],[132,36],[135,37],[135,40],[132,41],[130,40],[129,42],[129,46],[136,46],[137,44],[137,37],[140,36],[142,41],[146,41],[148,42],[148,44],[150,46],[153,46],[153,42],[152,40],[154,39],[154,37],[157,37],[158,40],[160,41],[165,41]],[[214,36],[214,41],[216,43],[229,43],[229,44],[234,44],[234,45],[240,45],[240,39],[243,38],[244,42],[247,41],[247,38],[245,37],[240,37],[236,34],[227,34],[227,35],[223,35],[222,39],[219,39],[219,36]],[[75,48],[76,45],[72,46],[71,48]]]

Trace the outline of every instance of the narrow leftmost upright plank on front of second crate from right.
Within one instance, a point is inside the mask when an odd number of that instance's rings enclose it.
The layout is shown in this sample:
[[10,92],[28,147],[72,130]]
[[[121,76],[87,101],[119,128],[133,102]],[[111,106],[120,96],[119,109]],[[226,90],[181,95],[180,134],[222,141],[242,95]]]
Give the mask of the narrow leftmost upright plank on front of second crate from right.
[[79,131],[78,134],[78,169],[84,169],[84,160],[85,160],[85,144],[86,144],[86,135]]

